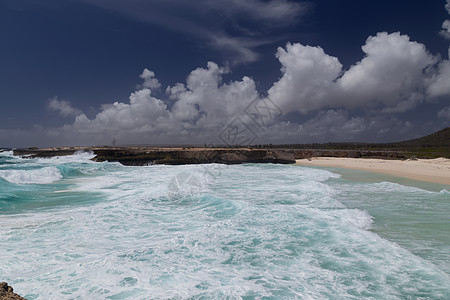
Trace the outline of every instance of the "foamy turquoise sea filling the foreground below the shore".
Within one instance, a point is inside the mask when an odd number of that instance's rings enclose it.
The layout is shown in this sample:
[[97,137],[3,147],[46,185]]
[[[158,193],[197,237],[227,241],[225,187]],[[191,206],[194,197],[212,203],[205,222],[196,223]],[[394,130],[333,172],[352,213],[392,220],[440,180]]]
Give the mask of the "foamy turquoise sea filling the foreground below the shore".
[[0,281],[28,299],[450,298],[445,186],[91,157],[0,154]]

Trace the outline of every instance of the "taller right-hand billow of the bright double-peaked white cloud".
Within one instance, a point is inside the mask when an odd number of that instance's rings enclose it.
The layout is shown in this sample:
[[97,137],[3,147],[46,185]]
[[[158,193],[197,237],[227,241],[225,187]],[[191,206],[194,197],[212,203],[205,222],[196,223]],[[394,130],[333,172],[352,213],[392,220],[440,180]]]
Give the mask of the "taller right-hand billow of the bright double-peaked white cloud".
[[424,71],[435,63],[423,44],[399,32],[378,33],[362,47],[366,57],[338,80],[348,107],[383,104],[406,111],[424,99]]

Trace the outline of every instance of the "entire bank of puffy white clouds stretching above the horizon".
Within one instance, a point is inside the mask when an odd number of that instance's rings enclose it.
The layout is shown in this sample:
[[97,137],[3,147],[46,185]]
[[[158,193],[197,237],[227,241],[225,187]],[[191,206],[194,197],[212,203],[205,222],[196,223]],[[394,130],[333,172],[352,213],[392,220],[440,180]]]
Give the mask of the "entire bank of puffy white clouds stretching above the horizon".
[[[144,69],[143,83],[128,101],[103,105],[93,118],[67,101],[52,99],[51,109],[76,118],[49,136],[70,136],[76,144],[105,144],[113,138],[121,144],[203,144],[217,140],[233,122],[253,126],[257,143],[367,141],[368,136],[386,141],[419,132],[414,122],[395,114],[450,96],[450,62],[400,33],[371,36],[362,50],[365,57],[343,70],[339,59],[321,47],[288,43],[278,48],[281,77],[267,98],[248,76],[225,82],[230,69],[214,62],[155,96],[162,85],[154,72]],[[261,131],[246,107],[264,101],[284,114],[300,112],[305,119],[281,121],[275,114]],[[445,108],[438,115],[445,119],[447,114]]]

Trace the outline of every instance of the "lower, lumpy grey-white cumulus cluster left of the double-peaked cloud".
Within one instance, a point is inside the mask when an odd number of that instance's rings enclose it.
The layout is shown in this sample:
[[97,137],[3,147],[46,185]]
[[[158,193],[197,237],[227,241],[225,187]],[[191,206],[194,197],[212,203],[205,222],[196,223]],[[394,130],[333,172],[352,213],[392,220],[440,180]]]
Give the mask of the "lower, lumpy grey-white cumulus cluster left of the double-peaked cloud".
[[[147,69],[146,69],[147,70]],[[153,72],[144,70],[141,78],[157,82]],[[166,94],[174,104],[152,96],[150,88],[142,88],[129,97],[129,102],[103,105],[92,119],[79,114],[73,124],[65,125],[61,135],[77,136],[81,143],[96,137],[96,143],[208,143],[223,126],[258,97],[254,81],[222,82],[227,68],[209,62],[197,68],[186,83],[167,87]],[[156,80],[156,81],[155,81]],[[153,85],[155,86],[155,85]]]

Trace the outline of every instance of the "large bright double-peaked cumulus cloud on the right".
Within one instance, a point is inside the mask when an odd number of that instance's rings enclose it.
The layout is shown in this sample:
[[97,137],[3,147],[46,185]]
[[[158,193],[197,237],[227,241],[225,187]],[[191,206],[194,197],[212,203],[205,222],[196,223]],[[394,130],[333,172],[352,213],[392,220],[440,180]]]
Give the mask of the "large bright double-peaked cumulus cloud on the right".
[[428,69],[437,58],[407,35],[381,32],[369,37],[362,50],[365,57],[344,71],[339,60],[322,48],[288,43],[286,49],[278,48],[283,76],[269,95],[285,109],[302,113],[325,107],[379,106],[385,112],[403,112],[426,100],[430,83],[438,85],[430,95],[437,90],[447,93],[442,87],[448,81],[447,62],[441,62],[442,75],[430,79],[433,74]]

